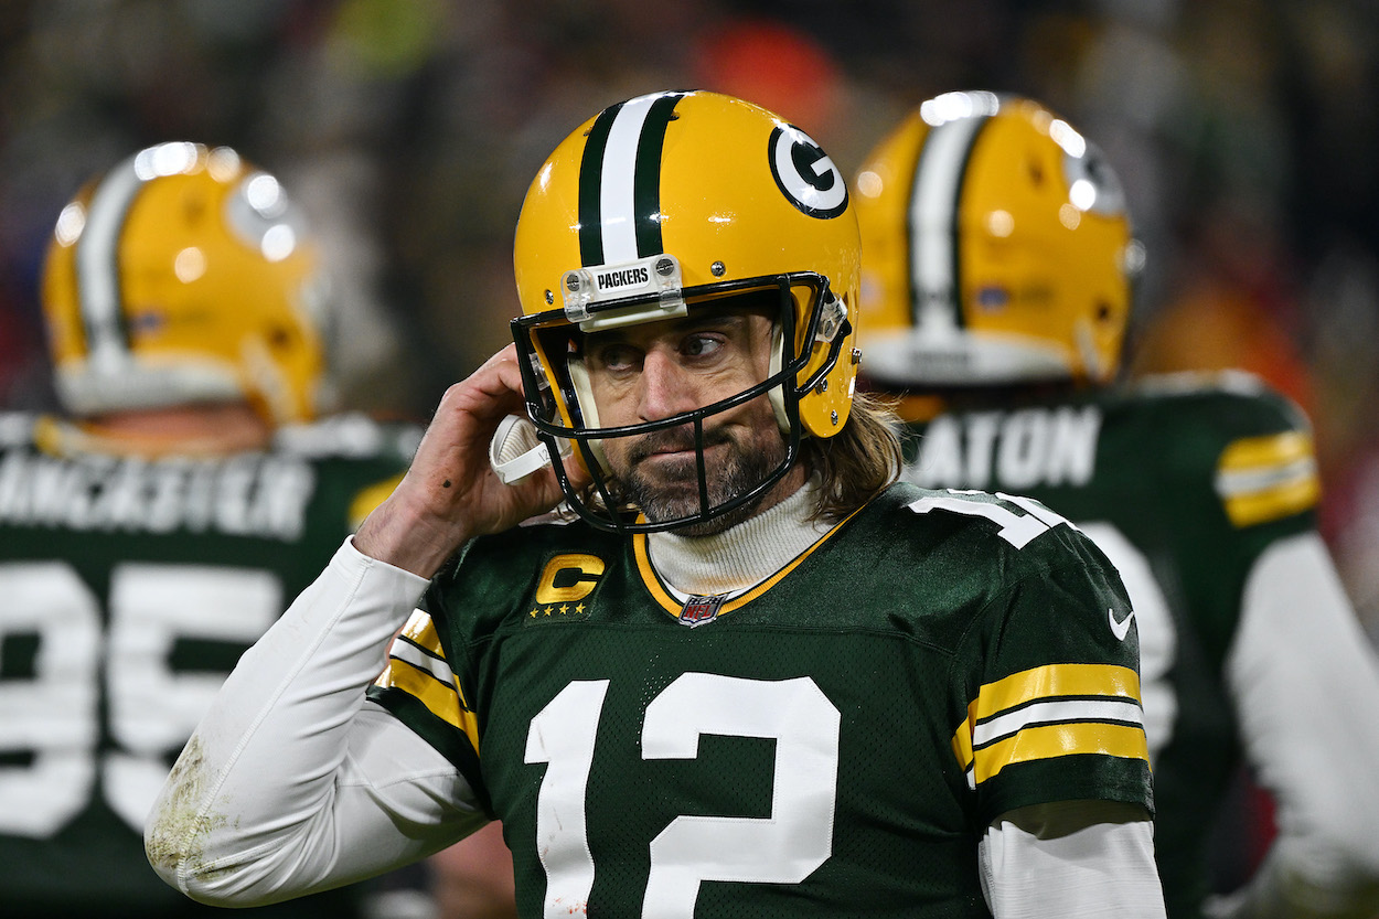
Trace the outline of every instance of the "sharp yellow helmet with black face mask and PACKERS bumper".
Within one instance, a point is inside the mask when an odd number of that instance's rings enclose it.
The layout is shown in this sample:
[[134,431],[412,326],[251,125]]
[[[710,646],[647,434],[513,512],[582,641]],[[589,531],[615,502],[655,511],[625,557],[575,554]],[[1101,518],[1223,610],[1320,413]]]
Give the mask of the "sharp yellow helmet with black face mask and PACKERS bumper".
[[[801,436],[843,429],[852,404],[859,240],[845,179],[800,128],[716,92],[655,92],[582,124],[527,192],[513,251],[524,316],[528,414],[554,454],[578,446],[594,502],[565,495],[594,526],[665,530],[742,506],[779,480]],[[601,428],[585,384],[583,333],[684,316],[725,298],[779,308],[769,377],[735,397],[643,425]],[[768,393],[787,442],[760,487],[710,506],[703,422]],[[684,519],[629,523],[607,488],[601,442],[692,425],[701,506]],[[560,465],[556,465],[560,473]],[[605,508],[614,508],[607,511]]]

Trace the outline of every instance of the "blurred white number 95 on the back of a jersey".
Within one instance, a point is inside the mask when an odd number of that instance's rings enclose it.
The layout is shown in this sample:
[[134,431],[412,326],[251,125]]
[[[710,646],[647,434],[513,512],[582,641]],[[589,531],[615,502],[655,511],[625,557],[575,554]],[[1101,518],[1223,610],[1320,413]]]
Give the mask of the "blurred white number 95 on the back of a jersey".
[[[101,602],[65,562],[0,564],[0,651],[36,643],[32,672],[0,680],[0,833],[44,839],[99,793],[131,829],[226,673],[177,673],[178,639],[251,644],[281,611],[268,571],[120,564]],[[98,751],[102,689],[114,748]],[[99,784],[99,789],[97,788]]]

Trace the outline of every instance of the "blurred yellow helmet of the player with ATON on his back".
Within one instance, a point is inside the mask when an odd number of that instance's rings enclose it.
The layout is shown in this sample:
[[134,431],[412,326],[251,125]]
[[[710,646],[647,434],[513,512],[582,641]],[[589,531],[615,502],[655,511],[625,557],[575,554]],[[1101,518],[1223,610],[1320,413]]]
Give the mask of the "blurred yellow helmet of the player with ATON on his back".
[[1116,375],[1143,248],[1102,153],[1037,102],[924,102],[854,184],[862,348],[883,386]]

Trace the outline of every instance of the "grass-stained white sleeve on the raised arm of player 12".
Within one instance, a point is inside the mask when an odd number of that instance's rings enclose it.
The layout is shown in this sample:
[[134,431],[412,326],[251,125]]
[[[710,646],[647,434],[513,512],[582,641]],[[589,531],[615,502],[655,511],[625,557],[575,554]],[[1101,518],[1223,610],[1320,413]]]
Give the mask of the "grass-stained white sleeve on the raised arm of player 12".
[[346,542],[240,658],[145,829],[164,880],[259,905],[416,861],[487,822],[459,773],[364,700],[425,588]]

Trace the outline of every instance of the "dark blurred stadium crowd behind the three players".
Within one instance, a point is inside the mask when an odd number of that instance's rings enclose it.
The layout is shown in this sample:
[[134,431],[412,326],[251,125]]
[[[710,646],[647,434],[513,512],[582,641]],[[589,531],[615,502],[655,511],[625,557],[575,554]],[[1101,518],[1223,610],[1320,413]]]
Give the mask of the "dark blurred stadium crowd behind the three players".
[[1135,370],[1244,367],[1311,414],[1322,531],[1379,638],[1372,0],[6,0],[0,408],[48,408],[62,204],[139,146],[236,146],[330,248],[350,407],[425,419],[507,338],[510,244],[578,123],[743,95],[844,172],[936,92],[1033,95],[1100,144],[1149,266]]

